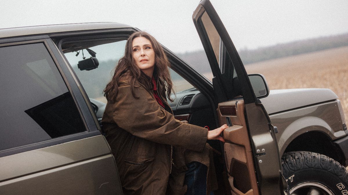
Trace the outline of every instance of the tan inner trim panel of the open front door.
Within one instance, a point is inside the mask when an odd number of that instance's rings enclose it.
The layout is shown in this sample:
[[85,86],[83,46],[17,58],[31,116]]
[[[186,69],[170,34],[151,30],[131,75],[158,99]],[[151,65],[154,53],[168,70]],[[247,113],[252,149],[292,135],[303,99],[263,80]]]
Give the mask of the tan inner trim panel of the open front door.
[[224,155],[232,194],[259,194],[252,149],[244,116],[244,101],[219,103],[219,125],[230,123],[223,132]]

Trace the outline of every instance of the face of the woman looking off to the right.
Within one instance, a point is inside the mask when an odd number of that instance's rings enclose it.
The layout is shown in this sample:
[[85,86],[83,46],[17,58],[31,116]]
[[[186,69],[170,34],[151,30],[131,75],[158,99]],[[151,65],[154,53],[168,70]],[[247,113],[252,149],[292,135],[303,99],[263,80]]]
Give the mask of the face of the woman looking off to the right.
[[132,42],[132,55],[136,65],[143,73],[152,77],[155,68],[155,50],[153,50],[150,40],[145,37],[136,37]]

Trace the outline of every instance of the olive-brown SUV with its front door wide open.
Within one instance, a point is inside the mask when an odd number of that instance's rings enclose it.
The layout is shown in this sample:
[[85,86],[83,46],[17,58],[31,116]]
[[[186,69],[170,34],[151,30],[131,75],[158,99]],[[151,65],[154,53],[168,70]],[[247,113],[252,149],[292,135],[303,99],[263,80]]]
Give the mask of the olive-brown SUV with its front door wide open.
[[[208,0],[193,22],[210,67],[199,72],[164,48],[178,91],[171,107],[190,124],[229,125],[226,143],[208,141],[215,194],[348,194],[338,97],[269,92],[262,75],[246,74]],[[104,87],[135,31],[119,23],[0,29],[0,194],[122,194],[100,121]]]

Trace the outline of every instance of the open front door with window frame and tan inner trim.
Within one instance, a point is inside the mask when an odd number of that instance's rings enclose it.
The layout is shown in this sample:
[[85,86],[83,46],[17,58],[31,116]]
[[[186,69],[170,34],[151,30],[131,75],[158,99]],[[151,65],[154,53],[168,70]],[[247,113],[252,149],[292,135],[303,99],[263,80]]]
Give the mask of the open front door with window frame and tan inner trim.
[[285,194],[274,127],[209,0],[192,19],[213,72],[219,125],[229,125],[223,150],[231,194]]

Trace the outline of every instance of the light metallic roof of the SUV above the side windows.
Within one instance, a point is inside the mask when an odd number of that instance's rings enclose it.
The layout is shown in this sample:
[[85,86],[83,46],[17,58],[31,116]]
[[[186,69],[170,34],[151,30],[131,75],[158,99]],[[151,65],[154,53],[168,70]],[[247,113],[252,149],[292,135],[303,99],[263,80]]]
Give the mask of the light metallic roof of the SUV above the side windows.
[[78,23],[78,24],[55,24],[42,26],[27,26],[16,28],[2,28],[0,29],[0,39],[17,36],[28,35],[44,35],[61,32],[86,31],[97,29],[111,29],[111,28],[132,28],[132,26],[114,23],[114,22],[98,22],[98,23]]

